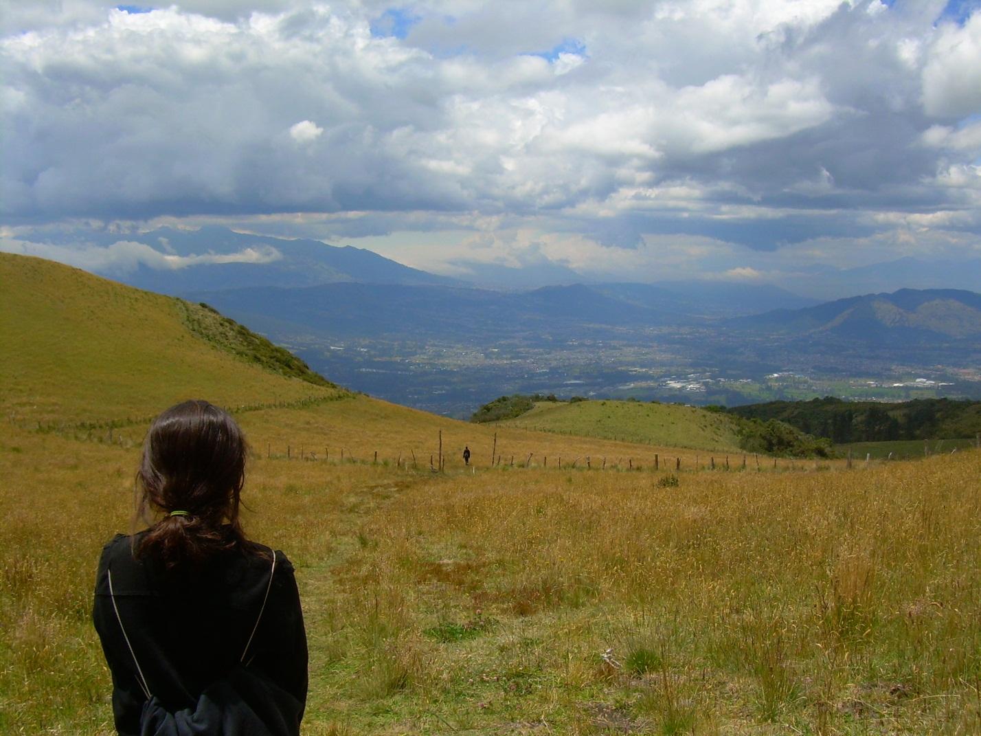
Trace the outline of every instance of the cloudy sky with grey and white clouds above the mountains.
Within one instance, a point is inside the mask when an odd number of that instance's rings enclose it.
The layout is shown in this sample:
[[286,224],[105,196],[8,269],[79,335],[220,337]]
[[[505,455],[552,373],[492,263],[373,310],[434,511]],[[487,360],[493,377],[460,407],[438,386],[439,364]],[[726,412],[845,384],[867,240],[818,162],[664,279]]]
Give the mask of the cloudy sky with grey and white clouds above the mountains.
[[981,257],[981,0],[2,12],[0,249],[221,223],[456,276]]

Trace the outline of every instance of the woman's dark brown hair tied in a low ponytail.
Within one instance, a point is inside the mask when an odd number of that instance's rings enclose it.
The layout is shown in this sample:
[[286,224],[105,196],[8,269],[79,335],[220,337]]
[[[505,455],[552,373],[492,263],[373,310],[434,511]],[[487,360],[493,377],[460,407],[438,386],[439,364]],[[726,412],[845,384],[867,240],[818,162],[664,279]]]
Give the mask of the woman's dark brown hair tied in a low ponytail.
[[[154,419],[136,472],[136,515],[166,515],[135,552],[175,567],[222,550],[249,550],[238,523],[246,453],[235,420],[207,401],[184,401]],[[171,515],[178,510],[186,515]]]

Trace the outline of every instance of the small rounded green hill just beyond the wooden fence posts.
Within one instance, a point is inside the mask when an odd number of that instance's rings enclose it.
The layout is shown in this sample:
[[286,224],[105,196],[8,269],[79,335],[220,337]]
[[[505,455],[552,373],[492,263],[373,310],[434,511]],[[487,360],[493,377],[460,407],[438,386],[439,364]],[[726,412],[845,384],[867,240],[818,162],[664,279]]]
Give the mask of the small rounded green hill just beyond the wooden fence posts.
[[516,419],[497,422],[541,432],[593,435],[642,445],[738,452],[736,425],[693,406],[639,401],[539,401]]

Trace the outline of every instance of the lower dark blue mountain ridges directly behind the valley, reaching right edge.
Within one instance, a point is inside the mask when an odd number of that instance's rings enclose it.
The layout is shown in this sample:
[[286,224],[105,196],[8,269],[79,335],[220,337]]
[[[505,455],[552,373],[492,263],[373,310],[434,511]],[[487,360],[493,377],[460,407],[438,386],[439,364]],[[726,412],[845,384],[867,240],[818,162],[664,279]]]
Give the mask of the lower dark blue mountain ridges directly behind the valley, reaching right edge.
[[[187,295],[282,339],[316,335],[472,344],[529,334],[542,340],[577,334],[601,339],[603,331],[612,328],[628,330],[640,341],[645,328],[697,327],[764,336],[774,345],[785,338],[806,338],[812,345],[834,339],[902,349],[981,336],[981,294],[972,291],[901,289],[720,322],[703,315],[721,309],[725,300],[719,296],[713,303],[702,289],[693,285],[694,295],[687,295],[683,289],[619,284],[507,292],[341,282],[305,289],[222,289]],[[748,289],[721,293],[734,295],[730,313],[745,309],[753,299],[804,301],[775,288],[761,294]],[[702,296],[700,305],[691,302],[695,295]]]

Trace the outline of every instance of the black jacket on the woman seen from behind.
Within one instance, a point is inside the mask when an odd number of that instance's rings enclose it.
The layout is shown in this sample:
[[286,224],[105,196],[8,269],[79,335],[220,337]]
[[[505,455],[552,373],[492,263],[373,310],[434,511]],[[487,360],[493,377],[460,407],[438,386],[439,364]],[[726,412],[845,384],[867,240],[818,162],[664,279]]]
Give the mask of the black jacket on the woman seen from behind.
[[[137,535],[137,540],[139,535]],[[146,700],[109,596],[107,570],[129,644],[143,676],[168,709],[193,708],[201,692],[231,670],[262,606],[269,584],[268,555],[221,552],[191,569],[166,570],[134,558],[131,537],[103,548],[92,619],[113,675],[113,714],[120,734],[139,733]],[[276,573],[249,647],[259,669],[301,704],[307,693],[307,645],[293,566],[276,553]]]

